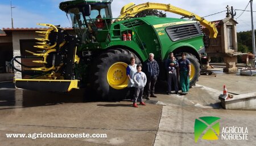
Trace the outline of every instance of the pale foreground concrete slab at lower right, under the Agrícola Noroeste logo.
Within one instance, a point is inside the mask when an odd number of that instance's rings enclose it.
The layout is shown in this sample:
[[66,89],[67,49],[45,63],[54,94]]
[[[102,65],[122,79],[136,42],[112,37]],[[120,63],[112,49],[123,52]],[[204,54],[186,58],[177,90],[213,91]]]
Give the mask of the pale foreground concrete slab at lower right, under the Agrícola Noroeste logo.
[[[162,117],[154,145],[255,145],[255,115],[255,111],[163,106]],[[195,119],[209,116],[221,118],[219,139],[199,139],[195,143]],[[248,140],[222,140],[222,127],[233,126],[247,127]]]

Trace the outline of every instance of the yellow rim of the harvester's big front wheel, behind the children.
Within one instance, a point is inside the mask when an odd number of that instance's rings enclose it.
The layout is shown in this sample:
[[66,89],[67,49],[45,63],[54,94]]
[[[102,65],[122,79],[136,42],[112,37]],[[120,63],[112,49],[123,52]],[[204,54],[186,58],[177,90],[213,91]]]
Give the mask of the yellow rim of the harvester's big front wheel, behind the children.
[[114,89],[123,89],[127,87],[128,78],[126,76],[126,67],[124,62],[114,63],[109,67],[107,79],[109,85]]

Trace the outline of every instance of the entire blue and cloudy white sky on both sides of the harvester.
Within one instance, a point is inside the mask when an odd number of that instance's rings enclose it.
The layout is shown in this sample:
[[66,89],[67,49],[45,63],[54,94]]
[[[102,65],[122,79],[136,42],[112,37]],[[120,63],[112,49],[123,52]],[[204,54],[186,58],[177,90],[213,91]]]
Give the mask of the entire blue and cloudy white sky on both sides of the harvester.
[[[65,0],[12,0],[13,6],[13,20],[14,28],[35,28],[40,27],[36,23],[51,23],[55,25],[61,25],[61,27],[71,27],[65,12],[59,9],[59,3]],[[141,4],[145,2],[157,2],[157,3],[171,3],[176,7],[183,8],[187,11],[191,11],[199,16],[207,16],[214,14],[216,12],[226,10],[226,5],[233,6],[234,9],[245,9],[249,0],[215,0],[215,1],[205,1],[205,0],[113,0],[112,11],[113,17],[116,18],[123,5],[134,2],[135,4]],[[253,8],[256,11],[256,3],[254,1]],[[250,10],[250,4],[246,8]],[[237,16],[241,14],[242,11],[237,11]],[[180,18],[180,15],[171,14],[167,12],[167,17]],[[10,0],[0,0],[0,29],[11,27],[11,8]],[[209,21],[221,20],[225,18],[225,12],[217,15],[209,16],[205,19]],[[235,16],[236,18],[236,16]],[[248,31],[251,29],[251,19],[250,12],[244,12],[240,18],[235,19],[239,24],[237,24],[237,31]],[[254,12],[254,25],[256,24],[256,12]],[[256,28],[256,26],[254,26]]]

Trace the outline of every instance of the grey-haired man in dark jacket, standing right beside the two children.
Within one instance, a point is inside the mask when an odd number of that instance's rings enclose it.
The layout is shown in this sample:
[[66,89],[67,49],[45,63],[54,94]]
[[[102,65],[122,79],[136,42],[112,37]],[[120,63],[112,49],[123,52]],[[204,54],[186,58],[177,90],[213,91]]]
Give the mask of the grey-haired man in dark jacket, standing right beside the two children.
[[158,79],[159,75],[159,66],[158,62],[154,59],[154,54],[150,53],[148,59],[143,64],[143,72],[147,76],[147,84],[146,84],[146,99],[150,100],[150,97],[156,97],[154,95],[155,92],[155,83]]

